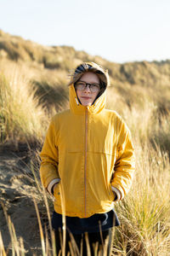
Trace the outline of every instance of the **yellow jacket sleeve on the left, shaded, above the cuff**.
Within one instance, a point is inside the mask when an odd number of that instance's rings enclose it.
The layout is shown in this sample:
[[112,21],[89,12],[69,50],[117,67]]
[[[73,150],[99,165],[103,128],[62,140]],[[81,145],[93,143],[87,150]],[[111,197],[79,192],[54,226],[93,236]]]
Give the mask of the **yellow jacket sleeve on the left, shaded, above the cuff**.
[[47,189],[49,183],[51,183],[54,179],[59,179],[59,153],[57,147],[57,131],[53,120],[48,127],[47,135],[42,146],[40,157],[42,160],[40,166],[40,177],[43,186]]

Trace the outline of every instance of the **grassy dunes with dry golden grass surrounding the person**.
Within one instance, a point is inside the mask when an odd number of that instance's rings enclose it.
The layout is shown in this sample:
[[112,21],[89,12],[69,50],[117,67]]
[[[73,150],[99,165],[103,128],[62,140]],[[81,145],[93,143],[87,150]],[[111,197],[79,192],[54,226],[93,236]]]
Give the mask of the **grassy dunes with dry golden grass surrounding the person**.
[[[55,255],[38,152],[51,116],[69,106],[68,70],[88,59],[109,67],[107,108],[127,122],[136,153],[133,186],[116,203],[112,255],[169,255],[170,62],[121,65],[0,34],[0,255]],[[74,241],[71,251],[78,255]]]

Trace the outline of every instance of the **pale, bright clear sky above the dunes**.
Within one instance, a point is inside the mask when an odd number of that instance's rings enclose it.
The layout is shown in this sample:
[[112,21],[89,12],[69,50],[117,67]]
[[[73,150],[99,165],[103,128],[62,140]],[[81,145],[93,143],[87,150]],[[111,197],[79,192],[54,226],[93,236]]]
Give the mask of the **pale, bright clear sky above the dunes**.
[[0,29],[117,63],[170,59],[170,0],[0,0]]

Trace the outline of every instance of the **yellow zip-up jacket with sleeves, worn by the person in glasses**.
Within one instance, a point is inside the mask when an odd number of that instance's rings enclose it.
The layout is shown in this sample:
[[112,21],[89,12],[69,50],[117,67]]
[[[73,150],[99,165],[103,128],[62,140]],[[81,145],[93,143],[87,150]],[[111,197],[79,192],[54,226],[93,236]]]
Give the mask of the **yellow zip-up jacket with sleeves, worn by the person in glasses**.
[[134,171],[133,143],[122,118],[105,109],[106,91],[88,107],[78,102],[73,84],[69,92],[71,109],[57,113],[48,127],[40,174],[45,188],[60,178],[54,189],[56,212],[88,218],[113,208],[111,188],[120,192],[120,199],[127,193]]

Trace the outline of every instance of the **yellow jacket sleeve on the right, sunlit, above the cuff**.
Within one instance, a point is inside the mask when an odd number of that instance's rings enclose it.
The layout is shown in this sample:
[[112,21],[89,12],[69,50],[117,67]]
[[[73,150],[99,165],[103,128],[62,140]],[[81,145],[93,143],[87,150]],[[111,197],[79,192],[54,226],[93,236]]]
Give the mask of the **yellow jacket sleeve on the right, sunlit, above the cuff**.
[[130,131],[122,121],[118,128],[116,163],[111,186],[119,189],[121,200],[127,194],[133,180],[135,168],[134,148]]

